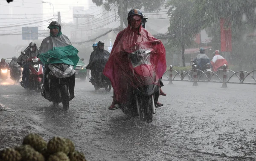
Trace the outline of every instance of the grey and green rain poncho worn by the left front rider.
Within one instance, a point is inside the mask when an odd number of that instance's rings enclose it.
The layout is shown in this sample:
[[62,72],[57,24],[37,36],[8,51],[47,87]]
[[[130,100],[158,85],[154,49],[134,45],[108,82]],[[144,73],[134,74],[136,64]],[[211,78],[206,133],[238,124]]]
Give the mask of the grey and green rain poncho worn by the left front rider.
[[41,43],[38,57],[45,65],[64,63],[76,68],[79,61],[78,52],[68,37],[61,34],[57,37],[49,36],[45,38]]

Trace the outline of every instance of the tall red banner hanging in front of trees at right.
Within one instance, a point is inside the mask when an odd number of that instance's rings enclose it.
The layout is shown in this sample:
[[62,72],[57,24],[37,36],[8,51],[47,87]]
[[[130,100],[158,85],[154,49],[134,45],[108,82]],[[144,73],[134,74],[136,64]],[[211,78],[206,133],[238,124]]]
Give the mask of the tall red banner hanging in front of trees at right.
[[221,18],[221,51],[232,51],[231,23],[226,26],[225,19]]

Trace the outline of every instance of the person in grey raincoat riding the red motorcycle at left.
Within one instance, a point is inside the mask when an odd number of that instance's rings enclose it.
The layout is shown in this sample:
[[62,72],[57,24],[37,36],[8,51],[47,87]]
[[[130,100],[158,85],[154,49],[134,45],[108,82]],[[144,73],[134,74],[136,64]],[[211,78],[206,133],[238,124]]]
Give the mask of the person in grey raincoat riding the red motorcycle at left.
[[[28,56],[25,58],[25,61],[22,61],[22,81],[20,83],[24,83],[24,88],[26,89],[28,87],[29,83],[29,65],[30,62],[27,62],[27,60],[31,57],[35,57],[39,54],[39,50],[37,48],[37,45],[35,42],[30,42],[29,46],[25,49],[25,55]],[[25,56],[24,56],[25,57]]]

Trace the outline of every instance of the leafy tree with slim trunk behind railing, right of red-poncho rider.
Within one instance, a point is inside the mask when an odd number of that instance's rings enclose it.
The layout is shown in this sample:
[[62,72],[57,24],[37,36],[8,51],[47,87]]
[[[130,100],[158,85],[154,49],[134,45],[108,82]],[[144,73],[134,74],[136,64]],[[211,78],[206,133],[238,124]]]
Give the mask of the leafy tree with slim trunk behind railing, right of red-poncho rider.
[[167,6],[171,6],[168,11],[170,16],[168,31],[175,34],[175,40],[171,42],[181,48],[182,64],[185,67],[185,46],[193,42],[193,37],[202,27],[198,23],[198,17],[193,16],[195,0],[169,0]]

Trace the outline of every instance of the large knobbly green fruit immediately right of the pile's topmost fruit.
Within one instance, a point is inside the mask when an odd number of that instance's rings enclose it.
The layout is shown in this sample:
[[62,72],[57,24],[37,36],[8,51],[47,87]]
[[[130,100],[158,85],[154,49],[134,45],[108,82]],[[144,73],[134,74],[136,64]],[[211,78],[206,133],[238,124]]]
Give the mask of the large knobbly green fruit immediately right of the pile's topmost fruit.
[[47,150],[50,154],[57,152],[68,154],[70,151],[66,139],[56,136],[49,140],[47,144]]

